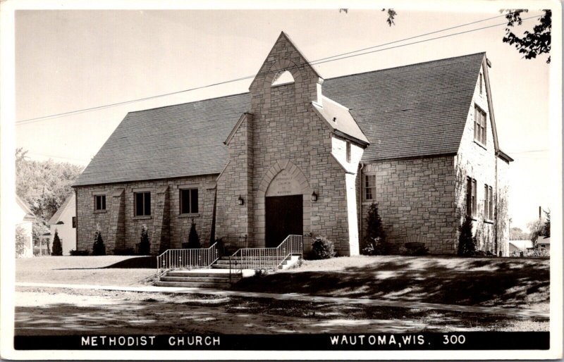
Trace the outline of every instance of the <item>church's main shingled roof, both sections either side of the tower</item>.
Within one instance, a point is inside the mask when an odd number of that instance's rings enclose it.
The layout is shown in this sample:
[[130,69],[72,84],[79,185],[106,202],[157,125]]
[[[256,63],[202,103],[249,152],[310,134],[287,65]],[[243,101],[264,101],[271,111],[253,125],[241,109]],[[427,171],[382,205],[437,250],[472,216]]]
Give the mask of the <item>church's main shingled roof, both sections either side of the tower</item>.
[[[455,154],[484,53],[325,80],[370,145],[363,161]],[[128,113],[75,186],[220,173],[250,94]]]

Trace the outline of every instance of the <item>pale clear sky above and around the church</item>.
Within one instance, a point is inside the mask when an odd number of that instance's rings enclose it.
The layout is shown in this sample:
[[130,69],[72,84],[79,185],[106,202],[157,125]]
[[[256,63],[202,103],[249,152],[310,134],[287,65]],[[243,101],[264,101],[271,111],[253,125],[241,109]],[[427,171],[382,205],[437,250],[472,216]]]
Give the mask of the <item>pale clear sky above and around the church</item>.
[[[314,61],[499,16],[496,8],[16,11],[16,120],[114,104],[254,75],[281,31]],[[525,16],[540,15],[531,10]],[[417,37],[453,34],[504,18]],[[520,29],[530,30],[535,19]],[[503,26],[316,65],[324,78],[486,51],[499,144],[510,166],[512,226],[551,207],[546,56],[525,60]],[[68,116],[16,123],[16,146],[34,159],[87,165],[129,111],[247,92],[252,79]],[[470,107],[470,105],[469,105]],[[552,146],[554,148],[554,146]]]

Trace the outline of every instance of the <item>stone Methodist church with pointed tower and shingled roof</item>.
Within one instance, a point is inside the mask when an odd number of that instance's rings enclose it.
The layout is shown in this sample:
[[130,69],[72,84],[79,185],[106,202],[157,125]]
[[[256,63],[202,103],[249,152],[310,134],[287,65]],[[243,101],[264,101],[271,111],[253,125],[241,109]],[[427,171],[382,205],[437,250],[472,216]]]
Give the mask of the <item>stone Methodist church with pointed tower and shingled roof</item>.
[[77,249],[179,249],[238,237],[277,246],[322,235],[360,252],[372,203],[396,250],[507,255],[508,167],[486,54],[324,79],[284,32],[249,92],[130,112],[73,186]]

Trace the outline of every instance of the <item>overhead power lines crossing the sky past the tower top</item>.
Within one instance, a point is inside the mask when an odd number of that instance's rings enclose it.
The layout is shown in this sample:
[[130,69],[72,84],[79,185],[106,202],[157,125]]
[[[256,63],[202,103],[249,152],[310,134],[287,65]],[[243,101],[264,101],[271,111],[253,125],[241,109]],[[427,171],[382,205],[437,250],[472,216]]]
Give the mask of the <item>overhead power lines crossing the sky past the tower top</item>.
[[[430,42],[430,41],[436,40],[436,39],[443,39],[443,38],[447,38],[447,37],[453,37],[453,36],[455,36],[455,35],[462,35],[462,34],[466,34],[466,33],[469,33],[469,32],[476,32],[476,31],[479,31],[479,30],[489,29],[489,28],[491,28],[491,27],[498,27],[498,26],[501,26],[501,25],[506,25],[506,23],[498,23],[498,24],[494,24],[494,25],[488,25],[488,26],[485,26],[485,27],[478,27],[478,28],[474,28],[474,29],[470,29],[470,30],[465,30],[465,31],[463,31],[463,32],[455,32],[455,33],[448,34],[448,35],[442,35],[442,36],[440,36],[440,37],[433,37],[433,38],[430,38],[430,39],[419,40],[419,41],[417,41],[417,42],[410,42],[410,43],[400,44],[400,45],[396,45],[396,46],[389,46],[388,48],[384,48],[384,49],[369,50],[369,49],[379,48],[379,47],[381,47],[381,46],[396,44],[396,43],[399,43],[399,42],[405,42],[406,40],[416,39],[416,38],[419,38],[419,37],[425,37],[425,36],[427,36],[427,35],[433,35],[433,34],[436,34],[436,33],[439,33],[439,32],[445,32],[445,31],[447,31],[447,30],[453,30],[453,29],[456,29],[456,28],[458,28],[458,27],[465,27],[465,26],[467,26],[467,25],[472,25],[472,24],[476,24],[476,23],[482,23],[482,22],[487,21],[487,20],[492,20],[492,19],[496,19],[496,18],[501,18],[502,16],[505,16],[505,15],[497,15],[497,16],[494,16],[494,17],[492,17],[492,18],[486,18],[486,19],[482,19],[482,20],[476,20],[476,21],[473,21],[473,22],[471,22],[471,23],[465,23],[465,24],[461,24],[461,25],[455,25],[455,26],[453,26],[453,27],[446,27],[446,28],[441,29],[441,30],[435,30],[434,32],[427,32],[427,33],[424,33],[424,34],[422,34],[422,35],[415,35],[415,36],[413,36],[413,37],[407,37],[407,38],[399,39],[399,40],[396,40],[396,41],[393,41],[393,42],[388,42],[388,43],[384,43],[384,44],[378,44],[378,45],[374,45],[374,46],[369,46],[369,47],[367,47],[367,48],[364,48],[364,49],[357,49],[357,50],[355,50],[355,51],[348,51],[348,52],[345,52],[345,53],[336,54],[336,55],[334,55],[334,56],[329,56],[329,57],[326,57],[326,58],[320,58],[320,59],[317,59],[317,60],[315,60],[315,61],[311,61],[311,62],[309,62],[309,63],[299,63],[299,64],[296,64],[296,65],[293,65],[293,66],[290,67],[290,68],[300,68],[300,67],[302,67],[302,66],[304,66],[304,65],[317,65],[317,64],[322,64],[322,63],[329,63],[329,62],[332,62],[332,61],[340,61],[340,60],[342,60],[342,59],[353,58],[353,57],[355,57],[355,56],[362,56],[362,55],[366,55],[366,54],[372,54],[372,53],[376,53],[376,52],[379,52],[379,51],[385,51],[385,50],[389,50],[389,49],[396,49],[396,48],[400,48],[400,47],[403,47],[403,46],[410,46],[410,45],[414,45],[414,44],[420,44],[420,43],[424,43],[424,42]],[[530,17],[528,17],[528,18],[522,18],[522,20],[525,21],[525,20],[529,20],[529,19],[532,19],[532,18],[537,18],[537,17],[539,17],[539,16],[540,16],[540,15],[534,15],[534,16],[530,16]],[[369,51],[368,51],[368,50],[369,50]],[[363,53],[360,53],[361,51],[363,51]],[[218,86],[218,85],[225,85],[225,84],[232,83],[232,82],[239,82],[239,81],[241,81],[241,80],[252,79],[252,78],[257,77],[257,75],[265,75],[265,74],[277,73],[277,72],[278,72],[278,70],[277,70],[276,72],[267,71],[267,72],[263,72],[263,73],[257,73],[257,74],[255,74],[255,75],[247,75],[246,77],[239,77],[239,78],[235,78],[235,79],[231,79],[231,80],[225,80],[225,81],[223,81],[223,82],[215,82],[215,83],[212,83],[212,84],[209,84],[209,85],[202,85],[202,86],[200,86],[200,87],[193,87],[193,88],[183,89],[183,90],[179,90],[179,91],[176,91],[176,92],[169,92],[169,93],[165,93],[165,94],[157,94],[157,95],[155,95],[155,96],[147,96],[147,97],[139,98],[139,99],[131,99],[131,100],[129,100],[129,101],[121,101],[121,102],[116,102],[116,103],[112,103],[112,104],[105,104],[105,105],[103,105],[103,106],[94,106],[94,107],[90,107],[90,108],[82,108],[82,109],[78,109],[78,110],[75,110],[75,111],[68,111],[68,112],[63,112],[63,113],[56,113],[56,114],[52,114],[52,115],[49,115],[49,116],[41,116],[41,117],[36,117],[36,118],[28,118],[28,119],[25,119],[25,120],[18,120],[18,121],[16,121],[16,125],[27,125],[27,124],[30,124],[30,123],[40,122],[40,121],[43,121],[43,120],[48,120],[48,119],[53,119],[53,118],[60,118],[60,117],[65,117],[65,116],[74,115],[74,114],[80,114],[80,113],[90,112],[90,111],[97,111],[97,110],[104,109],[104,108],[110,108],[110,107],[114,107],[114,106],[122,106],[122,105],[124,105],[124,104],[131,104],[131,103],[140,102],[140,101],[147,101],[147,100],[149,100],[149,99],[157,99],[157,98],[161,98],[161,97],[164,97],[164,96],[171,96],[171,95],[174,95],[174,94],[192,92],[192,91],[199,90],[199,89],[205,89],[205,88],[209,88],[209,87],[216,87],[216,86]]]

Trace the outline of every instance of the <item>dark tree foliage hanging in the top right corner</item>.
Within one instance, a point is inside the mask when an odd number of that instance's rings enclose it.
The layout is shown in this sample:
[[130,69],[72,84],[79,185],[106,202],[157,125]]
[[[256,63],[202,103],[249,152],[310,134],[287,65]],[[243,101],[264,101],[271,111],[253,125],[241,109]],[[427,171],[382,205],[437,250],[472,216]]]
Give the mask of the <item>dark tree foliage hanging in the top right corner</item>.
[[[515,25],[522,25],[522,13],[527,13],[527,9],[508,9],[503,10],[505,18],[508,20],[505,27],[505,37],[503,42],[515,45],[517,51],[525,54],[525,59],[537,58],[541,54],[550,54],[551,51],[551,29],[552,29],[552,11],[543,10],[544,14],[538,19],[539,23],[534,25],[533,31],[523,32],[523,36],[519,37],[513,33]],[[548,55],[546,63],[551,62]]]

